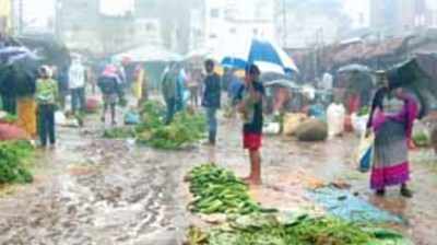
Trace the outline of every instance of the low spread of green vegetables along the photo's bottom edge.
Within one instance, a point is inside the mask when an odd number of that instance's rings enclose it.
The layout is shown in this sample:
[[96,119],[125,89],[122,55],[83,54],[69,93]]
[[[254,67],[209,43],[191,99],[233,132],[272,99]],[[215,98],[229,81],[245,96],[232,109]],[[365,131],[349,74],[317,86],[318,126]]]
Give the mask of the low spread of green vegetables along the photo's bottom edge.
[[411,245],[401,234],[383,229],[368,229],[329,217],[277,215],[252,213],[231,218],[209,231],[190,228],[190,245]]

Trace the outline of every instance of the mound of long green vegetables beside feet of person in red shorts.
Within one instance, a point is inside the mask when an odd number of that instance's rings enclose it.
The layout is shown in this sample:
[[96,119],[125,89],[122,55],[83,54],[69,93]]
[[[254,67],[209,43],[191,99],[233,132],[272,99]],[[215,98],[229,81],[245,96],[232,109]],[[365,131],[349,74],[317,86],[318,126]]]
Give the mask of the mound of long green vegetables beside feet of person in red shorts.
[[194,167],[188,175],[190,191],[194,200],[190,211],[211,214],[248,214],[268,212],[256,203],[248,194],[248,187],[233,172],[205,164]]

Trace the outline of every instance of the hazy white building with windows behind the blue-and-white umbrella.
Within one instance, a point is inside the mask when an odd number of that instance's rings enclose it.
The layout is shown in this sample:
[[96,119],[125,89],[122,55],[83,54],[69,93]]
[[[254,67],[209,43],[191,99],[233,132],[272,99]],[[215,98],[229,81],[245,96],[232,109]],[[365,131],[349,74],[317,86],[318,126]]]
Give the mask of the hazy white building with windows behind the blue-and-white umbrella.
[[[196,45],[214,49],[251,37],[275,40],[274,2],[262,0],[204,0],[192,20]],[[198,24],[200,23],[200,24]]]

